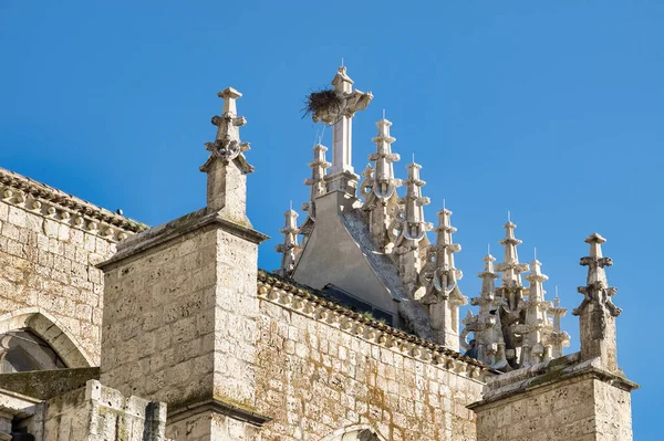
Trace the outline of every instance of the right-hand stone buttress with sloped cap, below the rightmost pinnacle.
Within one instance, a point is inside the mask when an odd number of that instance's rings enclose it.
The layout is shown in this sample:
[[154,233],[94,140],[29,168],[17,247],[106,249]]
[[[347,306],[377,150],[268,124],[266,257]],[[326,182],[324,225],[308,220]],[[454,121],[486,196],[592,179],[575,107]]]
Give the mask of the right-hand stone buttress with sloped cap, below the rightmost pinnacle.
[[479,441],[630,441],[636,387],[577,353],[490,379],[470,407]]

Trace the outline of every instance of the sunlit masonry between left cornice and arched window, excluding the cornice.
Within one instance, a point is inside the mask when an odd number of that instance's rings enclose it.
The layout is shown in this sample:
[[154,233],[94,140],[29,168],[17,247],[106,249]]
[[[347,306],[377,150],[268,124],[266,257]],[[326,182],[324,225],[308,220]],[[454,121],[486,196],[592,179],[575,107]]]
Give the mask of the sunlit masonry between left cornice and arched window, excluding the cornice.
[[94,265],[115,252],[117,230],[2,186],[0,196],[0,316],[39,307],[98,365],[103,274]]

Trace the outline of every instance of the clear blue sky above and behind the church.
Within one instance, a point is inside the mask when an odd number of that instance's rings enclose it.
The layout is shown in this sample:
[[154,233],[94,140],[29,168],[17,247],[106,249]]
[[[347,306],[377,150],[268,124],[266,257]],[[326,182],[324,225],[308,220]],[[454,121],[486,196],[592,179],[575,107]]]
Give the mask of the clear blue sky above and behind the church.
[[[417,4],[413,7],[412,4]],[[619,359],[636,440],[661,439],[664,2],[0,0],[0,166],[149,224],[205,203],[204,143],[229,85],[249,124],[249,216],[274,239],[308,197],[317,126],[304,95],[341,57],[375,98],[354,125],[354,165],[385,108],[394,149],[443,198],[475,296],[507,210],[571,311],[594,231],[614,259]],[[330,144],[330,130],[324,143]],[[300,218],[303,220],[303,217]],[[549,298],[550,298],[549,297]],[[578,349],[578,319],[564,326]]]

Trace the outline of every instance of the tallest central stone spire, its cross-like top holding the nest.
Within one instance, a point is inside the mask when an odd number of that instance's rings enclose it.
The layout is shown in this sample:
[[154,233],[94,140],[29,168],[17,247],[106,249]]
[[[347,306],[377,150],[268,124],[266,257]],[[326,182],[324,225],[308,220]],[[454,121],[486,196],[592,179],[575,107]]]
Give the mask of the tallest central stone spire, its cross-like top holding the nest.
[[357,180],[353,169],[353,116],[357,111],[364,111],[371,103],[371,92],[353,91],[353,80],[345,67],[339,67],[332,80],[332,86],[338,97],[338,105],[317,109],[312,119],[333,125],[332,130],[332,167],[325,178],[329,190],[340,190],[355,196]]

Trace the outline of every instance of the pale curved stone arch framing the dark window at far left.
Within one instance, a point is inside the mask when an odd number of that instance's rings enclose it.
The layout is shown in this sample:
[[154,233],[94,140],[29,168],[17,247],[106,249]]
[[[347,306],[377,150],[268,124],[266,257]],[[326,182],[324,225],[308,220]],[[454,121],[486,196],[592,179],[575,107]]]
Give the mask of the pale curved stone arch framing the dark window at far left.
[[91,367],[92,358],[76,338],[51,314],[40,307],[28,307],[0,315],[0,335],[30,329],[58,354],[69,368]]

